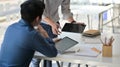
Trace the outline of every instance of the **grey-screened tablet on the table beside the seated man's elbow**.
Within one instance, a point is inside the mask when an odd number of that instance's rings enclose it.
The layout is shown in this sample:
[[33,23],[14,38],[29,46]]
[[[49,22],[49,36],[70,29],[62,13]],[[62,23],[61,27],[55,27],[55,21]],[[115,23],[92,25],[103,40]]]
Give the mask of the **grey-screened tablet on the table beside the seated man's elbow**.
[[63,54],[66,52],[67,49],[75,46],[76,44],[78,44],[77,41],[75,41],[69,37],[64,37],[63,39],[58,41],[55,44],[55,46],[56,46],[56,49],[58,50],[58,53]]

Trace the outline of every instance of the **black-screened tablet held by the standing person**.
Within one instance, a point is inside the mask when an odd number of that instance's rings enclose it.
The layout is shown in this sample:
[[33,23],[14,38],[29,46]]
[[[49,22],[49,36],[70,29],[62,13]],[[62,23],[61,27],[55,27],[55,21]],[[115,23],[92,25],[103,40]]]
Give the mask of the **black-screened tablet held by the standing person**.
[[74,32],[74,33],[83,33],[86,25],[85,24],[72,24],[72,23],[65,23],[62,28],[62,31],[65,32]]

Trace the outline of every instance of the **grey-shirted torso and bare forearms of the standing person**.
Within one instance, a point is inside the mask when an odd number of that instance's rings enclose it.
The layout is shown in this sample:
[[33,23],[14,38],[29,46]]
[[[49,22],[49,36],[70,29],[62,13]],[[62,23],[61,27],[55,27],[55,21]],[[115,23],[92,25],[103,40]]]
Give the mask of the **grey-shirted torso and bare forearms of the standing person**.
[[58,35],[60,31],[59,23],[59,13],[58,8],[61,6],[61,13],[63,14],[63,19],[70,23],[75,23],[73,19],[73,14],[70,10],[70,0],[43,0],[45,3],[45,10],[42,16],[42,21],[52,27],[52,32]]

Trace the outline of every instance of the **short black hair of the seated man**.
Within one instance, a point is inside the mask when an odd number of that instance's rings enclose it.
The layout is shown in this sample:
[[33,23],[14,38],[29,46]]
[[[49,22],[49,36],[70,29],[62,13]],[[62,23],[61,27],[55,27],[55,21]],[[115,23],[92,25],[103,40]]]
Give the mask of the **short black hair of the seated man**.
[[40,0],[27,0],[20,7],[21,18],[31,23],[37,16],[42,17],[45,5]]

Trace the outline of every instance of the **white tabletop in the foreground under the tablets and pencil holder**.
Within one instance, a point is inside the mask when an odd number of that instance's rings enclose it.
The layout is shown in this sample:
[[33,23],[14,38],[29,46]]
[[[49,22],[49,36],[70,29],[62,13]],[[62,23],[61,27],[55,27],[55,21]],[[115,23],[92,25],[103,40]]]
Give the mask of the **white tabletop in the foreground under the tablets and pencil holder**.
[[[76,48],[81,48],[81,46],[94,46],[96,48],[101,49],[101,44],[86,44],[83,42],[83,39],[81,38],[80,34],[76,33],[63,33],[61,37],[69,36],[70,38],[75,39],[79,42],[78,45],[71,48],[71,50],[74,50]],[[107,34],[106,34],[107,35]],[[88,65],[99,65],[99,66],[106,66],[106,67],[120,67],[120,44],[118,37],[120,35],[115,35],[114,37],[117,37],[115,39],[115,43],[113,45],[113,57],[102,57],[101,54],[97,57],[86,57],[86,56],[76,56],[73,54],[62,54],[58,55],[54,58],[48,58],[40,53],[36,53],[35,57],[38,59],[46,59],[46,60],[55,60],[55,61],[63,61],[63,62],[71,62],[71,63],[80,63],[80,64],[88,64]]]

